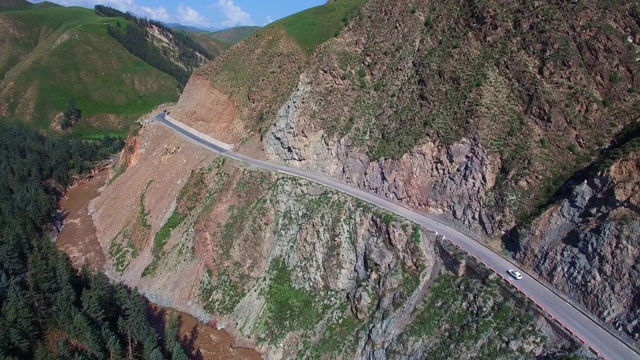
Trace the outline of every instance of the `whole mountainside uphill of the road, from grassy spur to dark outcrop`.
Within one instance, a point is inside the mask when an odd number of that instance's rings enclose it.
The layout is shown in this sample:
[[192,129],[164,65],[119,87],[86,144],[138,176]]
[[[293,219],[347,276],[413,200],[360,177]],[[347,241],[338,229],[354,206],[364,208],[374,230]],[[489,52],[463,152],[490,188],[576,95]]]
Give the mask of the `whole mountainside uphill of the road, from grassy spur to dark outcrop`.
[[173,114],[473,231],[637,342],[639,15],[338,0],[200,68]]

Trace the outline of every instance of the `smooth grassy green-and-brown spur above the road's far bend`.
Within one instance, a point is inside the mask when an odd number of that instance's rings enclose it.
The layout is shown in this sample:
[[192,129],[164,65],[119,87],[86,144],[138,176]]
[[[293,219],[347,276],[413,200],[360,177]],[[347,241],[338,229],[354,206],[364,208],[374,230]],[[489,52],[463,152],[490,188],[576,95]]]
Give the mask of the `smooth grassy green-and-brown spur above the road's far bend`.
[[231,95],[245,127],[264,132],[294,88],[309,55],[346,26],[366,0],[341,0],[302,11],[266,26],[201,73]]

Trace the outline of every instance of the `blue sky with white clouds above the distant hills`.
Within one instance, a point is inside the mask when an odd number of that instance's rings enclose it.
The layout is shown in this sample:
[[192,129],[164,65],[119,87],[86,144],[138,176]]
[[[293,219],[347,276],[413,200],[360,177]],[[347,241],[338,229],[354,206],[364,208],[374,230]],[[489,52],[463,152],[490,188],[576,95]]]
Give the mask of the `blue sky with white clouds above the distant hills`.
[[[33,1],[33,0],[32,0]],[[240,25],[264,26],[271,21],[326,0],[49,0],[64,6],[111,6],[122,11],[165,23],[181,23],[200,28],[227,28]],[[40,1],[33,1],[40,2]]]

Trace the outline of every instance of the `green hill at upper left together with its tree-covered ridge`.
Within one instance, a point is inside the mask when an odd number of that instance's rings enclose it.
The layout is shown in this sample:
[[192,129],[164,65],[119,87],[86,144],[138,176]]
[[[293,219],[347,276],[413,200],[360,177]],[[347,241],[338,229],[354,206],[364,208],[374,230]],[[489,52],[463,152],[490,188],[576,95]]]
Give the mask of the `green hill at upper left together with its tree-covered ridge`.
[[[125,134],[140,115],[176,101],[193,69],[227,47],[108,7],[2,6],[0,118],[42,129]],[[69,100],[81,121],[65,120]]]

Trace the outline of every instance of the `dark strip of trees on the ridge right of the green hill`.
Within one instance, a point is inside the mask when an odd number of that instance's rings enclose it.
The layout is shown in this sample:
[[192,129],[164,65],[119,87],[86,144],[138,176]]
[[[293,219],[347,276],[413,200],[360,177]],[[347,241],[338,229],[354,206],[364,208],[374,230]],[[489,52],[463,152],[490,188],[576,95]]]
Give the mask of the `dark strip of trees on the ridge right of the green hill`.
[[[138,18],[131,13],[124,13],[104,5],[96,5],[95,10],[96,14],[100,16],[122,17],[132,22],[124,29],[107,25],[107,33],[120,42],[131,54],[156,69],[173,76],[182,86],[186,85],[193,69],[200,65],[202,57],[206,60],[213,58],[202,45],[198,44],[184,31],[174,30],[161,22]],[[120,23],[118,22],[118,24]],[[176,60],[184,68],[171,61],[166,49],[160,49],[149,41],[148,29],[152,26],[165,38],[171,40],[172,44],[177,48]]]

